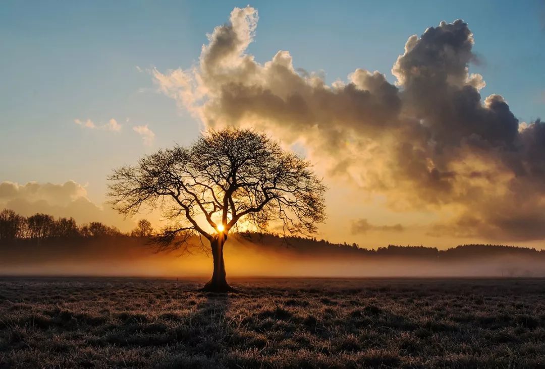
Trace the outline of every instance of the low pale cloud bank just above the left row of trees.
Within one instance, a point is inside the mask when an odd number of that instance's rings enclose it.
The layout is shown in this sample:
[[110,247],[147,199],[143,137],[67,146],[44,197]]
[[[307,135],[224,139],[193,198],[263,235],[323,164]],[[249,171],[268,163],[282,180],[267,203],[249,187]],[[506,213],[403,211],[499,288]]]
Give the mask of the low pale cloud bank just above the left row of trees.
[[78,223],[102,222],[122,230],[135,226],[131,219],[123,219],[110,206],[95,205],[87,198],[87,190],[77,182],[38,183],[19,185],[0,182],[0,209],[9,208],[23,216],[35,213],[54,217],[73,217]]

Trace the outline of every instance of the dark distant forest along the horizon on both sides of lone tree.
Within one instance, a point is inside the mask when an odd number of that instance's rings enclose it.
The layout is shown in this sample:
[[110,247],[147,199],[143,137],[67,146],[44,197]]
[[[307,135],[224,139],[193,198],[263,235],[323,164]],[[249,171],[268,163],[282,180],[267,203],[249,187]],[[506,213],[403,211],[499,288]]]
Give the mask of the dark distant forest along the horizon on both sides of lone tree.
[[[0,212],[0,247],[13,243],[25,244],[54,244],[56,239],[66,243],[68,239],[89,238],[146,238],[151,241],[155,235],[151,223],[141,219],[134,230],[121,232],[116,227],[107,226],[100,222],[90,222],[78,225],[73,218],[57,218],[37,213],[30,217],[23,217],[12,210],[4,209]],[[535,248],[515,247],[493,244],[464,244],[455,248],[440,250],[437,247],[388,245],[377,249],[360,248],[358,244],[331,243],[325,239],[316,239],[297,236],[280,236],[257,232],[242,232],[234,235],[239,242],[250,242],[255,247],[278,250],[289,249],[293,253],[302,255],[353,255],[353,256],[385,256],[416,259],[478,259],[479,257],[493,256],[536,256],[545,257],[545,250]],[[196,240],[195,243],[198,243]]]

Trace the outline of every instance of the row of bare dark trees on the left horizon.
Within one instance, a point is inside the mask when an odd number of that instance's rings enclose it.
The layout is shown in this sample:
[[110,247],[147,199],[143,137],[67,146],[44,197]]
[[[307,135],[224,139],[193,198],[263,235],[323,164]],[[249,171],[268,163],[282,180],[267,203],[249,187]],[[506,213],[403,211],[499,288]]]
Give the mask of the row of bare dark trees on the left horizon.
[[55,219],[43,213],[23,217],[10,209],[0,212],[0,241],[103,236],[151,237],[154,233],[152,224],[147,219],[139,220],[134,230],[122,232],[117,227],[100,222],[78,225],[74,218]]

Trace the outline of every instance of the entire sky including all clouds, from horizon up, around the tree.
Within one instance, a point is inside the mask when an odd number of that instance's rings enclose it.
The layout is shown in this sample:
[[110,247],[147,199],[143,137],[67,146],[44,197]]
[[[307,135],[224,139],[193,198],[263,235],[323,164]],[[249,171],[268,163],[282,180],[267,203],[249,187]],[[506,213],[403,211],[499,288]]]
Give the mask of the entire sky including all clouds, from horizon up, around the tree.
[[[545,3],[246,5],[3,2],[0,205],[127,229],[134,222],[103,204],[112,168],[189,144],[204,127],[249,125],[305,152],[324,177],[319,237],[365,247],[545,246]],[[457,19],[465,23],[449,25]],[[213,58],[222,25],[238,44]],[[428,27],[437,31],[425,38]],[[417,47],[407,51],[412,35]],[[428,82],[444,73],[448,88],[422,84],[415,71],[434,72]],[[245,88],[231,91],[234,107],[222,95],[233,83]],[[269,111],[263,90],[280,110]],[[466,104],[475,93],[477,106]],[[486,105],[493,94],[501,98]],[[324,108],[334,104],[346,109]],[[425,180],[416,158],[427,163]]]

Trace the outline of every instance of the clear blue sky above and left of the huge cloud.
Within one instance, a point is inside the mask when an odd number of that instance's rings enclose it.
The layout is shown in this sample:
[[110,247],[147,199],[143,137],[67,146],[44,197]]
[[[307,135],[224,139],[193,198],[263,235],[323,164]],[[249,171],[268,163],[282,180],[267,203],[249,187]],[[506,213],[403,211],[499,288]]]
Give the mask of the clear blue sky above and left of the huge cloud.
[[[86,185],[104,200],[111,168],[145,152],[193,140],[199,122],[158,93],[147,69],[197,63],[206,34],[244,2],[21,2],[0,6],[0,181]],[[408,37],[463,19],[480,57],[471,72],[522,121],[545,116],[545,3],[542,1],[256,1],[257,61],[288,50],[295,67],[326,82],[361,67],[385,73]],[[141,69],[141,70],[139,70]],[[121,132],[86,130],[116,119]],[[128,121],[127,121],[128,120]],[[148,125],[152,146],[132,130]]]

